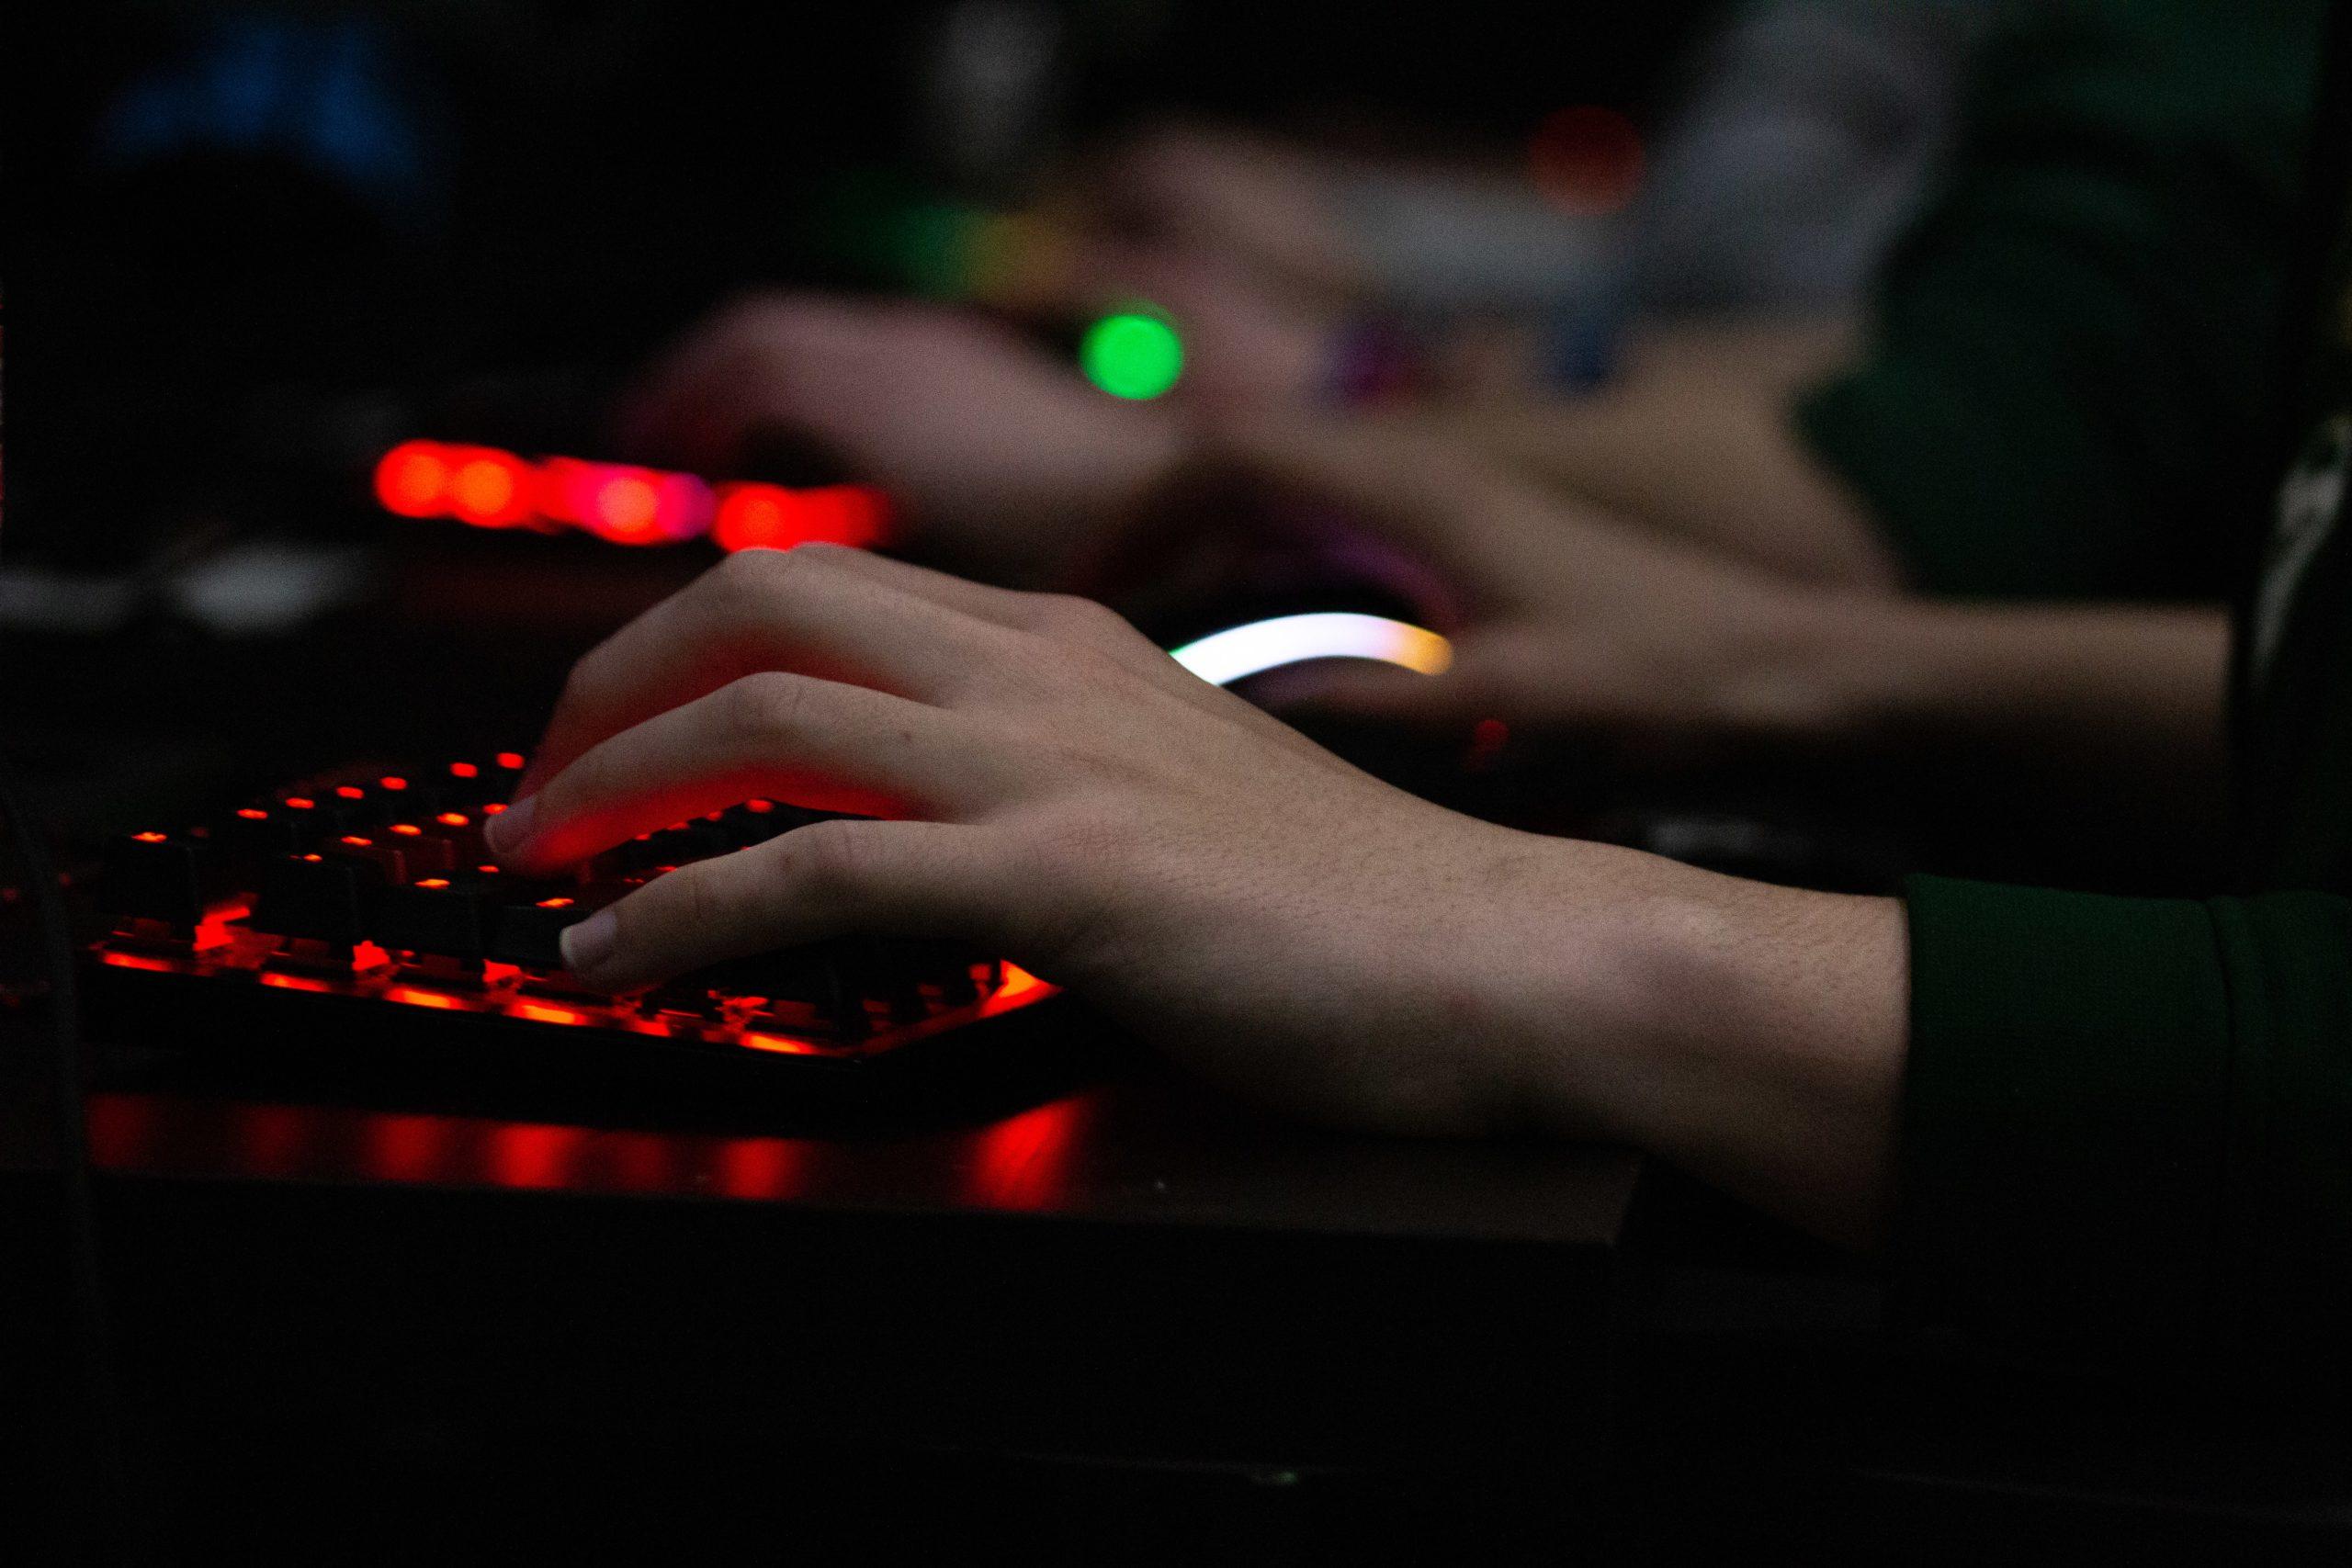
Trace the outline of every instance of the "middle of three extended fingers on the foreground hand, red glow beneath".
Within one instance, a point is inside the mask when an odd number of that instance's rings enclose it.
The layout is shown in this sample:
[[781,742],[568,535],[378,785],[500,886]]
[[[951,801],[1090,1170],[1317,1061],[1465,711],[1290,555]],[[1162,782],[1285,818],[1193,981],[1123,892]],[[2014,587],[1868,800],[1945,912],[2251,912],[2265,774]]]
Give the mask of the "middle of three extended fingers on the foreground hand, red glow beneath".
[[1011,788],[983,731],[941,708],[807,675],[748,675],[593,745],[489,818],[489,846],[553,872],[753,797],[816,811],[964,816]]

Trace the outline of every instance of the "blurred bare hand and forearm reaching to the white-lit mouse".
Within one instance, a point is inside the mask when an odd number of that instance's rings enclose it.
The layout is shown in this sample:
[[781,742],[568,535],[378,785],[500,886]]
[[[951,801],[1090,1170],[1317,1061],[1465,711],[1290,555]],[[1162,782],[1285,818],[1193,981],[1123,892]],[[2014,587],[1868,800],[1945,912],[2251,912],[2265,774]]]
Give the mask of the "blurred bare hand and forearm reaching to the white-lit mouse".
[[[1454,590],[1439,675],[1329,663],[1284,708],[1465,743],[1576,733],[1651,757],[1837,757],[1999,783],[2084,835],[2178,865],[2220,839],[2227,616],[1947,604],[1804,583],[1562,501],[1430,437],[1362,421],[1211,430],[1178,489],[1341,508]],[[1966,804],[1966,797],[1964,797]]]

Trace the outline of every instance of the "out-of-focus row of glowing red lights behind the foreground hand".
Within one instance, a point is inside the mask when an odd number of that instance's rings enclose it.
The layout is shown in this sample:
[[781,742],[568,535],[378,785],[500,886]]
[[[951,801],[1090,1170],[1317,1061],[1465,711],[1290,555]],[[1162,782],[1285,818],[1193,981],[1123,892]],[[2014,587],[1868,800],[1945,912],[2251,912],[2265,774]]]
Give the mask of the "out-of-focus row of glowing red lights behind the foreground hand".
[[477,529],[581,529],[616,545],[710,536],[722,550],[807,543],[873,548],[891,536],[889,498],[870,484],[708,484],[689,473],[520,458],[496,447],[400,442],[376,461],[376,501],[397,517],[454,517]]

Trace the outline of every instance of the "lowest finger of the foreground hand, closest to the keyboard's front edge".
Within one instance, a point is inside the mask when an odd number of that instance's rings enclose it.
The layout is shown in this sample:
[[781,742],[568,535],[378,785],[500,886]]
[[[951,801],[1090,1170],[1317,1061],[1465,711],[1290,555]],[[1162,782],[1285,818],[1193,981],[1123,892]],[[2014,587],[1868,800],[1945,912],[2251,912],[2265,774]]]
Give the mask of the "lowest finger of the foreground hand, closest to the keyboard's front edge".
[[990,940],[1007,879],[981,832],[946,823],[811,823],[654,877],[564,931],[564,966],[635,990],[722,959],[830,936]]

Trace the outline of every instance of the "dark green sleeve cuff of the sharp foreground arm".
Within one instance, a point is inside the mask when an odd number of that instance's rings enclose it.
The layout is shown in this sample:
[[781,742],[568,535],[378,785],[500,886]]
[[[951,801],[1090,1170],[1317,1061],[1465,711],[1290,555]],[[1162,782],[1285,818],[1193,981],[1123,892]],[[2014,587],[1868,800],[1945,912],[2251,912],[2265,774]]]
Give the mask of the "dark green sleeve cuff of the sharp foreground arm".
[[1912,879],[1896,1324],[2343,1396],[2352,900]]

